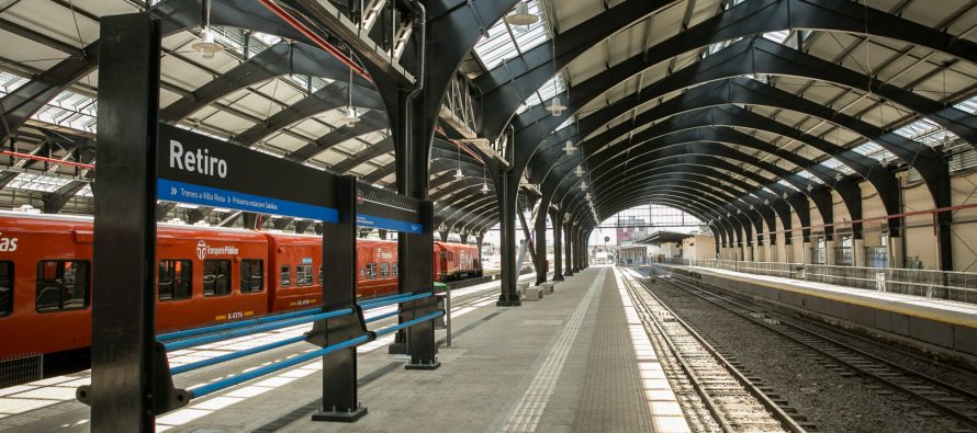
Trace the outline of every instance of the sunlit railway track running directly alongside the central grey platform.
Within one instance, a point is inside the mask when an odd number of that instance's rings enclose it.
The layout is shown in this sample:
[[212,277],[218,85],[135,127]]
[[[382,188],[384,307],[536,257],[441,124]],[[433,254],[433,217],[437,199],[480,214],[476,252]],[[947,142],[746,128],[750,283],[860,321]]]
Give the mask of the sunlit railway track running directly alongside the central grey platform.
[[[680,398],[690,425],[703,431],[805,432],[756,384],[642,283],[629,272],[621,272],[621,276],[676,396],[687,396],[692,392],[682,391],[692,388],[698,397],[698,407],[689,404],[687,398]],[[708,411],[715,425],[699,420],[700,414],[695,413],[699,407]]]

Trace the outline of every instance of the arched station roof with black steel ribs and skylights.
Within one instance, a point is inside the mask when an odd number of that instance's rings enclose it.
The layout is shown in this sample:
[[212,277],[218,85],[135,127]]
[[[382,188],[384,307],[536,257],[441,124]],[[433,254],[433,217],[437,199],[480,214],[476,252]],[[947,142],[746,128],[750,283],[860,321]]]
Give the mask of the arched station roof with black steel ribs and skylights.
[[[529,0],[539,18],[529,25],[502,19],[516,2],[423,2],[431,23],[478,23],[464,27],[474,43],[461,47],[458,65],[428,65],[428,73],[449,68],[437,73],[453,77],[471,112],[461,123],[472,130],[443,114],[435,126],[425,174],[441,230],[478,236],[498,221],[498,180],[480,141],[506,149],[498,157],[524,201],[592,225],[662,204],[716,232],[789,225],[791,210],[809,226],[809,201],[829,223],[835,196],[857,220],[863,184],[896,214],[896,173],[945,207],[950,173],[977,163],[974,2]],[[213,1],[214,16],[243,21],[215,24],[224,49],[204,58],[193,45],[206,3],[0,1],[0,145],[27,155],[0,156],[4,203],[91,212],[98,20],[141,10],[169,25],[167,123],[394,187],[383,92],[351,81],[348,68],[257,2]],[[359,2],[329,3],[360,16],[350,9]],[[407,16],[413,2],[364,4]],[[452,49],[469,41],[431,37]],[[409,52],[394,56],[406,65]],[[450,89],[429,94],[441,98],[442,113],[458,113]],[[162,205],[160,215],[239,224],[224,210]],[[261,220],[301,228],[274,215]]]

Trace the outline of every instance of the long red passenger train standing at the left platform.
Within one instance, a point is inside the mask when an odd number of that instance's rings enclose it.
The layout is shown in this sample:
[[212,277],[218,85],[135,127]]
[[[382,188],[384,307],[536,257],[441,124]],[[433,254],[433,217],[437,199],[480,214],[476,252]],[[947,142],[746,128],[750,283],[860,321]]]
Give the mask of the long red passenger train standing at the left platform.
[[[0,213],[0,361],[87,347],[92,219]],[[232,228],[157,228],[157,332],[322,301],[322,238]],[[474,246],[436,242],[439,281],[481,275]],[[395,241],[357,241],[357,297],[397,290]]]

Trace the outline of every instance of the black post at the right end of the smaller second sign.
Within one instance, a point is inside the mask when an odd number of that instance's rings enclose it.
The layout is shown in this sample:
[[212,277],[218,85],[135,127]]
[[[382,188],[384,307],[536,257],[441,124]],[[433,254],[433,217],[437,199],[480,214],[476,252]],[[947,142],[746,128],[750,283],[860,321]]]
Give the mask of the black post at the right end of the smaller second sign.
[[[401,271],[401,278],[404,278],[409,292],[420,294],[434,292],[434,215],[435,206],[431,201],[420,202],[420,233],[401,233],[408,239],[407,254],[411,258],[411,267]],[[405,310],[409,310],[408,315],[401,315],[402,318],[413,320],[431,312],[437,311],[438,300],[435,296],[417,299],[411,303],[401,304]],[[406,330],[407,354],[411,355],[411,363],[406,365],[407,369],[435,369],[441,366],[438,362],[438,345],[435,342],[435,321],[426,320],[417,323]]]

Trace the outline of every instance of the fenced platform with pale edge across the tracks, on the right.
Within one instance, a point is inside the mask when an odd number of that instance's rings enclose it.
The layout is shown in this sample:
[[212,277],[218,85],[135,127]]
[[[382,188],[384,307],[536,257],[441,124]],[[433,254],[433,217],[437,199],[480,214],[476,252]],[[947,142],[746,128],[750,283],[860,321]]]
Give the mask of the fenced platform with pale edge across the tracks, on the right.
[[977,365],[977,304],[705,266],[655,266]]

